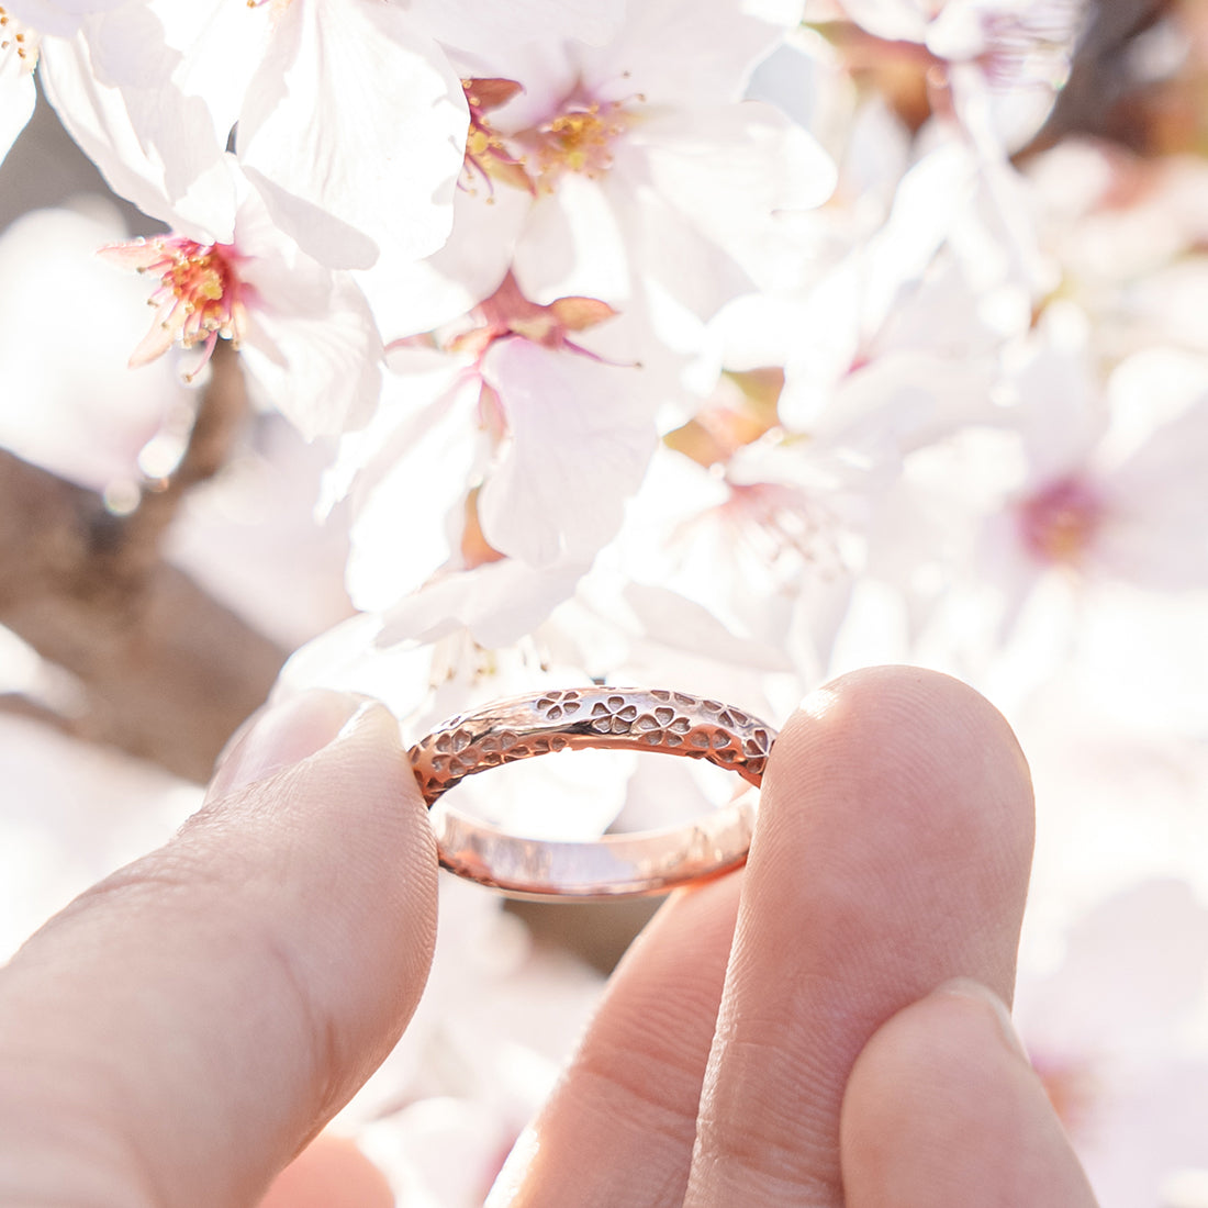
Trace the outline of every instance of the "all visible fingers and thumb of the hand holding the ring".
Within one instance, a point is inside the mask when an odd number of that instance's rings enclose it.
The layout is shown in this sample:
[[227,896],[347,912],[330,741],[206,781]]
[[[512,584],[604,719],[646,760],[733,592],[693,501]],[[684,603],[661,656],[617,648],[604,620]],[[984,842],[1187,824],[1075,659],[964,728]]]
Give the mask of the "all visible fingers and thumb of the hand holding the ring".
[[[352,1148],[307,1148],[435,937],[423,802],[356,705],[263,716],[172,843],[0,971],[0,1204],[391,1202]],[[814,693],[745,872],[658,912],[492,1208],[1093,1208],[1001,1009],[1030,853],[1027,766],[970,689]]]

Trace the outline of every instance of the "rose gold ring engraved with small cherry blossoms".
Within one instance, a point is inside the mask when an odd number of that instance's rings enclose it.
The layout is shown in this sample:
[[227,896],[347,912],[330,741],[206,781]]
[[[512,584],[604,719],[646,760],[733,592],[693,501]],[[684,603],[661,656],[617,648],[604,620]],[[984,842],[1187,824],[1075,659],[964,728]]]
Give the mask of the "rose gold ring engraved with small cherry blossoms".
[[[551,751],[610,748],[687,755],[759,788],[776,731],[739,709],[661,689],[576,687],[496,701],[446,721],[410,750],[431,807],[467,776]],[[432,821],[441,864],[515,898],[602,900],[656,894],[747,859],[757,794],[686,826],[587,842],[523,838],[442,802]]]

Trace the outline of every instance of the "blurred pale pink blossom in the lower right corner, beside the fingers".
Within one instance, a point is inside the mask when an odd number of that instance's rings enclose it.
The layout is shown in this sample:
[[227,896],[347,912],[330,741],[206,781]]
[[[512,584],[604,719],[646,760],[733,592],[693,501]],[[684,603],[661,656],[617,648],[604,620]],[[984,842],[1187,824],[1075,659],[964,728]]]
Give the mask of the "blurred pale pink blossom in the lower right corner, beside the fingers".
[[1056,970],[1021,977],[1029,1056],[1103,1208],[1167,1203],[1173,1177],[1208,1166],[1206,970],[1203,905],[1163,879],[1097,905]]

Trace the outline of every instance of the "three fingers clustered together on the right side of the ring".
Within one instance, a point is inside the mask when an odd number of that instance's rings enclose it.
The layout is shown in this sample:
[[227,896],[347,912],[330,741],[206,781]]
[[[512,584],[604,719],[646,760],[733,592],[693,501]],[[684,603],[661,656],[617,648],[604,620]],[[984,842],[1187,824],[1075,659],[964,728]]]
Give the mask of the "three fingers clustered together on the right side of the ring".
[[490,1208],[1093,1208],[1001,1004],[1032,838],[971,689],[876,668],[813,695],[745,872],[634,945]]

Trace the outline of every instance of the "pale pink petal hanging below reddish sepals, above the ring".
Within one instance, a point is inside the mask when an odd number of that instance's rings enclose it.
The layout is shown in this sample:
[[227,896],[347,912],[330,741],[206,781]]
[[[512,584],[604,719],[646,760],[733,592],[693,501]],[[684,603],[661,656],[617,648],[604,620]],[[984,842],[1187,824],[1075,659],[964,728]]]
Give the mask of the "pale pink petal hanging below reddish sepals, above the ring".
[[592,558],[620,528],[655,448],[643,371],[527,339],[494,344],[483,371],[510,426],[480,498],[483,534],[535,567]]

